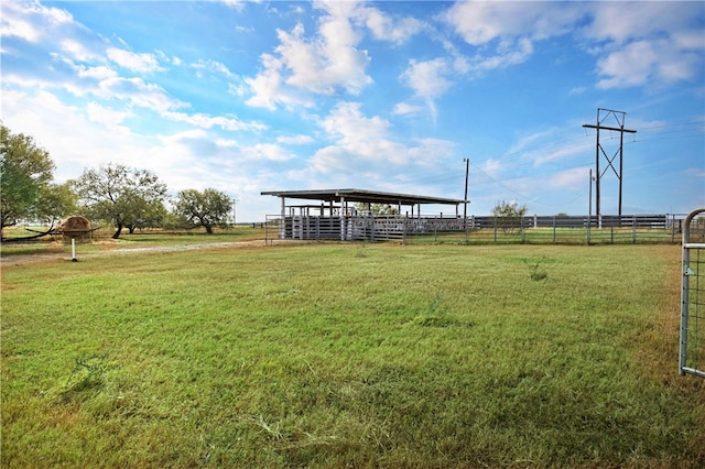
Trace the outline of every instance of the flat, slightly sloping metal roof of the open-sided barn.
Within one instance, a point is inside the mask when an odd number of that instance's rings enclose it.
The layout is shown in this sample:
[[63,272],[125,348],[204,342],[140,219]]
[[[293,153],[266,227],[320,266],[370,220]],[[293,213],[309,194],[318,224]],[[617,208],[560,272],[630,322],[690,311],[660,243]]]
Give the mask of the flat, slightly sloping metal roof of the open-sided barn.
[[438,204],[438,205],[459,205],[465,200],[445,197],[430,197],[413,194],[395,194],[382,193],[378,190],[365,189],[319,189],[319,190],[268,190],[261,195],[271,195],[283,198],[301,198],[308,200],[339,201],[345,198],[346,201],[365,201],[371,204]]

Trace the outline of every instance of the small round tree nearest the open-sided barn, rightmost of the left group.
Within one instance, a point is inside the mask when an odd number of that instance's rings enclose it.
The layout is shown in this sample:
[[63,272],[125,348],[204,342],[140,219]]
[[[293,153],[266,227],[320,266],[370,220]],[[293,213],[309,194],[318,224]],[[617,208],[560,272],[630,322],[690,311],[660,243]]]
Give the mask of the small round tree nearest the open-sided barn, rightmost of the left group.
[[213,227],[225,223],[232,208],[230,198],[220,190],[207,188],[182,190],[175,204],[176,214],[191,227],[204,227],[213,234]]

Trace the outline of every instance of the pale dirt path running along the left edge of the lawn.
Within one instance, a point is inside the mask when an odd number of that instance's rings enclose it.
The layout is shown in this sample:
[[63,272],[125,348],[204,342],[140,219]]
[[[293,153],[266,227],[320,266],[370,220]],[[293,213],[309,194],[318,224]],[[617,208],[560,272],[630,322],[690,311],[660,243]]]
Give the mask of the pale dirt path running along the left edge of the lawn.
[[[106,249],[104,251],[93,251],[93,252],[78,252],[76,258],[78,260],[84,259],[93,259],[93,258],[104,258],[108,255],[116,254],[140,254],[140,253],[149,253],[149,252],[180,252],[180,251],[192,251],[197,249],[226,249],[226,248],[249,248],[249,247],[264,247],[267,246],[264,240],[253,240],[253,241],[232,241],[232,242],[210,242],[210,243],[198,243],[198,244],[180,244],[180,246],[155,246],[155,247],[139,247],[139,248],[111,248]],[[69,252],[51,252],[51,253],[40,253],[40,254],[25,254],[25,255],[2,255],[0,257],[0,265],[23,265],[34,262],[47,262],[47,261],[70,261],[70,249]]]

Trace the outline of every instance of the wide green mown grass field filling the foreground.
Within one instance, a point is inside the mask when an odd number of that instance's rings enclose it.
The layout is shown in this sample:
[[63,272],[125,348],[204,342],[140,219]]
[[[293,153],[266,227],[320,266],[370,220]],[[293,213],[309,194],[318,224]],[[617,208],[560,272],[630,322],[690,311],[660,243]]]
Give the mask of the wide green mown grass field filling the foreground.
[[703,467],[680,252],[318,243],[3,265],[1,465]]

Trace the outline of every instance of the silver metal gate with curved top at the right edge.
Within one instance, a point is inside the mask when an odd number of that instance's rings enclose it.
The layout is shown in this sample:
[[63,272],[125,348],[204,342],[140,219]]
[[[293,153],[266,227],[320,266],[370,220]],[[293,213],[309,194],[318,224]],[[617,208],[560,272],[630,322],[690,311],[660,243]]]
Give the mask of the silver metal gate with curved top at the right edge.
[[681,357],[679,371],[705,378],[705,207],[683,225]]

